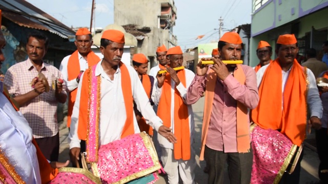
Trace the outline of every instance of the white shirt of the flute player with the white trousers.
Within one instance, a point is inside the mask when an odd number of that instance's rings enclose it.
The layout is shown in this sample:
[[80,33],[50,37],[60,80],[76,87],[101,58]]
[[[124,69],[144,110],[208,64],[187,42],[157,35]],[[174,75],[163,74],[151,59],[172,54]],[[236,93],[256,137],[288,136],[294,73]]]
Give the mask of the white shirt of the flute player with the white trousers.
[[[184,70],[186,72],[186,87],[183,86],[183,84],[180,82],[180,84],[177,85],[176,88],[179,91],[180,96],[182,97],[182,101],[186,103],[188,87],[193,81],[195,74],[188,69],[184,69]],[[170,128],[172,128],[173,133],[174,133],[174,91],[175,91],[175,82],[171,80],[171,125],[172,126]],[[158,88],[158,82],[155,81],[152,99],[156,105],[158,105],[159,103],[161,93],[162,93],[162,87]],[[189,119],[189,131],[190,131],[190,144],[192,144],[193,134],[195,130],[194,112],[191,105],[187,105],[187,106],[188,106],[188,114],[189,114],[188,119]],[[158,134],[157,139],[161,147],[173,149],[173,143],[170,143],[165,137]]]

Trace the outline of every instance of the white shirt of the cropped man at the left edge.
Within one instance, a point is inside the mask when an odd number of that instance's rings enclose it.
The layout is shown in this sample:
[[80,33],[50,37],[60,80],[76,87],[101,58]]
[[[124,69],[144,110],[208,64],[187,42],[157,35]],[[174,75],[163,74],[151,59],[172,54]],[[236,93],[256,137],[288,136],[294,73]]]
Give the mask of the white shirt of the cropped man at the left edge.
[[0,93],[0,120],[1,150],[26,183],[41,183],[32,129],[3,93]]

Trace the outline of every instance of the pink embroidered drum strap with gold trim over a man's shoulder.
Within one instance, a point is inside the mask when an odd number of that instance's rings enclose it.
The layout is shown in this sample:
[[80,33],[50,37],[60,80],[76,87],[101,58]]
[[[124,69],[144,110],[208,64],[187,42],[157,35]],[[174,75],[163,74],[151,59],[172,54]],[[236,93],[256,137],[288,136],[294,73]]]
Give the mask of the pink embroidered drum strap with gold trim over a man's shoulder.
[[96,129],[97,129],[97,77],[94,75],[96,71],[96,65],[92,66],[91,68],[91,96],[89,98],[90,102],[90,113],[89,113],[89,134],[88,134],[88,142],[86,147],[87,151],[87,161],[88,162],[97,162],[96,160]]

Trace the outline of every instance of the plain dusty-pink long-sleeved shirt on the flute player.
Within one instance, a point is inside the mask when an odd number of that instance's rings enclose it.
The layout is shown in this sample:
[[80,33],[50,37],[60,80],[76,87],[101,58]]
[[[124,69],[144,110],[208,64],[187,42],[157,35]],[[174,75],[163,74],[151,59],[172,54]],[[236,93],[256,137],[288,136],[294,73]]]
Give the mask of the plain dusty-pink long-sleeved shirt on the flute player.
[[[245,74],[245,85],[241,85],[232,75],[224,81],[217,78],[211,119],[206,137],[206,146],[225,153],[237,152],[236,107],[237,101],[249,109],[258,104],[256,73],[252,67],[241,65]],[[187,103],[195,103],[206,89],[206,76],[195,76],[188,88]]]

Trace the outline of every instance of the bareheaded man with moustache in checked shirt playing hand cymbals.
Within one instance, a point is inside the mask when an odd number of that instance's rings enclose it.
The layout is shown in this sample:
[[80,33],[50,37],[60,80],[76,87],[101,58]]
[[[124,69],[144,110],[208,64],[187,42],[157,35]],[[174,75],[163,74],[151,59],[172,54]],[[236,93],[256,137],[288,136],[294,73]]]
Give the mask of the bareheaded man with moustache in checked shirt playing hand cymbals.
[[[42,153],[48,160],[57,161],[59,155],[57,103],[65,103],[67,94],[63,81],[60,81],[63,76],[59,70],[43,62],[48,45],[47,36],[38,32],[30,33],[26,44],[28,59],[8,69],[4,84],[29,122]],[[39,73],[48,79],[48,86],[47,83],[38,80]],[[55,82],[56,78],[57,82]],[[46,91],[47,88],[50,88],[49,92]]]

